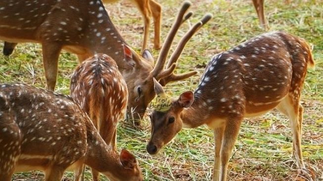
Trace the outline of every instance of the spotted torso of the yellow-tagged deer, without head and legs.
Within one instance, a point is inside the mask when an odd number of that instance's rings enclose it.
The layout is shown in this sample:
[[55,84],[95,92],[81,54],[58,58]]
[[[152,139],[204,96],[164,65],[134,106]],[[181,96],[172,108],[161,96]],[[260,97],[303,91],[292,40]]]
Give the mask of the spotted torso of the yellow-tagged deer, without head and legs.
[[209,62],[195,99],[211,114],[251,114],[274,108],[287,93],[299,97],[310,47],[300,38],[277,31],[254,37]]

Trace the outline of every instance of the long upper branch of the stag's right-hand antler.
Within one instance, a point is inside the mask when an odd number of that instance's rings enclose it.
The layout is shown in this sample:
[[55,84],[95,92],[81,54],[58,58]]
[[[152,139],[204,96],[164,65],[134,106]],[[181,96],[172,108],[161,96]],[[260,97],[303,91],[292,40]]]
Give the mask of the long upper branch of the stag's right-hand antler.
[[204,24],[206,24],[210,19],[212,18],[212,15],[207,13],[206,15],[204,15],[204,17],[201,19],[201,21],[199,21],[198,23],[196,23],[185,35],[184,37],[181,39],[180,43],[177,45],[175,51],[173,52],[171,58],[168,61],[167,67],[171,66],[173,63],[176,63],[176,61],[178,60],[178,58],[181,56],[182,51],[186,45],[186,43],[188,42],[188,40],[190,38],[192,38],[192,36],[194,35],[194,33],[196,33]]

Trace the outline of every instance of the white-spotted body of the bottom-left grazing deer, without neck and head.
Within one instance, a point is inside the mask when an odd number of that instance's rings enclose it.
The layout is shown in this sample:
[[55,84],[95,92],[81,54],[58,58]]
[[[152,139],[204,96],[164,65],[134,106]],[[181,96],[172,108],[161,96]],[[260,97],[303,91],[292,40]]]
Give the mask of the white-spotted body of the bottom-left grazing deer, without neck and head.
[[84,156],[89,119],[71,98],[24,84],[1,85],[0,97],[2,171],[67,168]]

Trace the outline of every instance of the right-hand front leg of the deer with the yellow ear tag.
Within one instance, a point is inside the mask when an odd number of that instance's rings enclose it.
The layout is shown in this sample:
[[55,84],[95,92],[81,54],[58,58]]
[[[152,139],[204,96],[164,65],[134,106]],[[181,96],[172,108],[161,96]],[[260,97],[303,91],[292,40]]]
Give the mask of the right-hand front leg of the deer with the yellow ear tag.
[[239,134],[239,129],[240,129],[242,119],[243,117],[231,117],[228,119],[227,125],[230,125],[230,126],[226,126],[225,128],[221,151],[220,151],[220,159],[221,159],[220,181],[227,180],[229,159],[234,147],[235,140]]

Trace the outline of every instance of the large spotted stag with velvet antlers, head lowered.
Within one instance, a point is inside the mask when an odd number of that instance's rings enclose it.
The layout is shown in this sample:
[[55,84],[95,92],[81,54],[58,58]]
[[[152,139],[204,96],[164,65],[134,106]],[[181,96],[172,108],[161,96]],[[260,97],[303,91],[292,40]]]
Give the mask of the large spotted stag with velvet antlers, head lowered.
[[[23,6],[24,8],[19,8]],[[182,17],[189,8],[185,2]],[[184,10],[183,10],[184,9]],[[8,42],[36,42],[42,44],[47,88],[54,90],[58,56],[61,49],[77,54],[82,62],[95,53],[104,53],[114,59],[125,79],[129,91],[128,118],[139,123],[148,103],[153,99],[153,80],[162,85],[195,75],[173,73],[187,41],[201,28],[211,15],[206,15],[186,33],[173,52],[166,68],[164,64],[180,25],[188,19],[177,20],[159,53],[156,66],[149,50],[142,55],[130,48],[112,24],[101,0],[25,0],[0,1],[0,39]],[[173,65],[174,64],[174,65]]]

